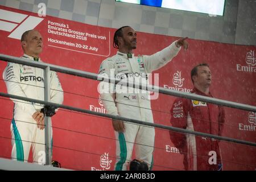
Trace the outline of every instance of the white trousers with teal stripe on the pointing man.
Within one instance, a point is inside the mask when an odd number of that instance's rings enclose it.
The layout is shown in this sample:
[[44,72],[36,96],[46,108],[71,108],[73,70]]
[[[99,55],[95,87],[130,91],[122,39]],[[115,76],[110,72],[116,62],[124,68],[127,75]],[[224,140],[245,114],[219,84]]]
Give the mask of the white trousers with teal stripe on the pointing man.
[[[127,106],[119,104],[118,114],[122,117],[137,119],[140,121],[153,122],[152,111],[143,109],[144,116],[142,118],[141,109],[139,107]],[[136,159],[143,160],[152,168],[152,153],[154,151],[155,130],[152,127],[139,126],[134,123],[124,122],[125,132],[115,132],[117,138],[117,162],[115,170],[127,170],[134,143]]]

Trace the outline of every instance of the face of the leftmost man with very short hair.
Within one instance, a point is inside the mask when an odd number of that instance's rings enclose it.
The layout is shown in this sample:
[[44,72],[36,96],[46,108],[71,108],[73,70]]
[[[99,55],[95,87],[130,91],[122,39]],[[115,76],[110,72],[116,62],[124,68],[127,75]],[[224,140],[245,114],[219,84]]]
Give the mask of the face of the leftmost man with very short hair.
[[43,48],[42,35],[38,31],[30,31],[26,41],[22,42],[24,53],[29,56],[39,56]]

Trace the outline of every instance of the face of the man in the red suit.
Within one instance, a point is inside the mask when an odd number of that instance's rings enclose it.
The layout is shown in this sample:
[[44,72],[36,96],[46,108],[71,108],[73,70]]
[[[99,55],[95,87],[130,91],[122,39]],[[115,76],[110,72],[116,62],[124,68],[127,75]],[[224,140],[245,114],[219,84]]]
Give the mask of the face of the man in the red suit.
[[210,86],[212,83],[212,73],[207,66],[197,67],[197,75],[193,77],[194,83],[200,86]]

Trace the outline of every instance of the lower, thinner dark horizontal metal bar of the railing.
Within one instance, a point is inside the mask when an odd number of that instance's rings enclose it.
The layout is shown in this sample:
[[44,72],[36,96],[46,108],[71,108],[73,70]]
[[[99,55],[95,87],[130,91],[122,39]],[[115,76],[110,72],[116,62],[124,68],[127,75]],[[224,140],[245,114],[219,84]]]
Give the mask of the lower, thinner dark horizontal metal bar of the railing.
[[201,136],[201,137],[214,138],[214,139],[218,139],[218,140],[224,140],[224,141],[227,141],[227,142],[246,144],[248,146],[256,147],[256,143],[254,143],[254,142],[248,142],[248,141],[234,139],[234,138],[220,137],[218,135],[201,133],[201,132],[198,132],[198,131],[185,130],[185,129],[180,129],[180,128],[177,128],[177,127],[160,125],[160,124],[156,124],[156,123],[149,123],[149,122],[139,121],[137,119],[120,117],[120,116],[117,116],[117,115],[98,113],[96,111],[90,111],[90,110],[80,109],[80,108],[77,108],[77,107],[55,104],[55,103],[52,103],[52,102],[34,100],[34,99],[31,99],[31,98],[27,98],[27,97],[20,97],[20,96],[15,96],[15,95],[12,95],[12,94],[1,93],[1,92],[0,92],[0,96],[15,98],[15,99],[18,99],[18,100],[24,100],[24,101],[28,101],[28,102],[35,102],[35,103],[43,104],[43,105],[51,105],[51,106],[60,107],[60,108],[63,108],[63,109],[78,111],[78,112],[86,113],[86,114],[98,115],[98,116],[106,117],[106,118],[119,119],[119,120],[126,121],[126,122],[137,123],[139,125],[158,127],[160,129],[167,129],[167,130],[176,131],[176,132],[179,132],[179,133],[187,133],[187,134],[197,135],[197,136]]

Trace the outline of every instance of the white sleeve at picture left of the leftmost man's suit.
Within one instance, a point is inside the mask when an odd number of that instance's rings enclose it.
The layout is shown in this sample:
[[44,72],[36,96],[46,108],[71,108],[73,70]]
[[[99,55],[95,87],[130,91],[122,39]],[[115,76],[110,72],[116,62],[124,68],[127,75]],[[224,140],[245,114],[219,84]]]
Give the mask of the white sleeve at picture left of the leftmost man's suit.
[[[5,80],[7,93],[15,96],[27,97],[19,83],[20,72],[19,64],[8,63],[5,71],[3,71],[3,80]],[[11,100],[13,100],[15,104],[18,104],[23,111],[30,115],[33,115],[36,112],[36,109],[31,102],[16,100],[13,98],[11,98]]]

